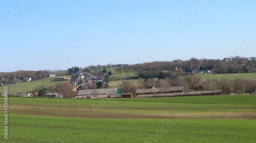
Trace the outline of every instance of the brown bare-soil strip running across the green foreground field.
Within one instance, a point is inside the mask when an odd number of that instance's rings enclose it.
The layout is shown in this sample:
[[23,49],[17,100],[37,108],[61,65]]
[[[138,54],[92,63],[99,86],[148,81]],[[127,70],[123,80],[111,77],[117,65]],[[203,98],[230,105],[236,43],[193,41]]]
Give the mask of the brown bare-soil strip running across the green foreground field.
[[[241,107],[239,107],[241,108]],[[250,107],[248,107],[250,108]],[[256,119],[256,112],[184,112],[162,111],[142,113],[133,112],[134,109],[104,108],[100,106],[41,106],[41,105],[12,105],[10,112],[19,115],[71,117],[71,118],[99,118],[99,119]],[[145,110],[145,112],[143,112]]]

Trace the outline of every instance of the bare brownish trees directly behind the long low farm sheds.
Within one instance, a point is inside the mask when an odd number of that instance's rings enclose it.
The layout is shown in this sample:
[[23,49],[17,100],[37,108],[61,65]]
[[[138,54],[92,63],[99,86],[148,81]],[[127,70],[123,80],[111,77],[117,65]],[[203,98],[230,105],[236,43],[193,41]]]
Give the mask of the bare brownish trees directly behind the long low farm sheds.
[[191,74],[185,76],[175,76],[173,78],[153,79],[139,78],[137,84],[129,80],[124,80],[119,84],[121,93],[135,94],[137,89],[145,88],[166,88],[183,87],[184,92],[191,91],[215,91],[223,90],[223,94],[230,93],[252,93],[256,89],[256,81],[251,79],[202,79],[199,75]]

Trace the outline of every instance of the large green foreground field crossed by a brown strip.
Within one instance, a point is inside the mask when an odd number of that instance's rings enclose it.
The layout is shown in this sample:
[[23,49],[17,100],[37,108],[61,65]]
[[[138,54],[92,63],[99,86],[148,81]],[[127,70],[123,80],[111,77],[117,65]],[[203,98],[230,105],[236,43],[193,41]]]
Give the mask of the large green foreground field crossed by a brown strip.
[[2,134],[0,142],[256,139],[256,95],[81,100],[12,97],[8,101],[9,139]]

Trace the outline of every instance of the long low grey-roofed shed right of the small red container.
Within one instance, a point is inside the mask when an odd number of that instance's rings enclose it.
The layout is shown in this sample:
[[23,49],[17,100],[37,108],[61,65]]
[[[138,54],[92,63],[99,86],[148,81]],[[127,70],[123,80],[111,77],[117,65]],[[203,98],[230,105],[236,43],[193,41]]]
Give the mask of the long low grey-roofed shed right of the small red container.
[[140,89],[136,91],[138,95],[152,95],[152,94],[165,94],[165,93],[179,93],[183,92],[184,87],[168,87],[168,88],[155,88],[155,89]]

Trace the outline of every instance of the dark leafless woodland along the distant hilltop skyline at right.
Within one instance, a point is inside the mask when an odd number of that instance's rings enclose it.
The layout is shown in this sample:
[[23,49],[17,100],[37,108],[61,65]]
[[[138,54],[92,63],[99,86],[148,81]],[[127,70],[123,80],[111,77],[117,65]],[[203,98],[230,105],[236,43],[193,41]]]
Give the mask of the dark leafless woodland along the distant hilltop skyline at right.
[[[152,62],[118,67],[116,73],[137,72],[141,78],[156,78],[163,74],[162,72],[176,72],[184,75],[189,69],[211,70],[213,73],[238,73],[255,71],[256,61],[243,61],[240,58],[233,58],[232,61],[221,60],[192,60],[184,62]],[[239,68],[243,66],[243,68]]]

